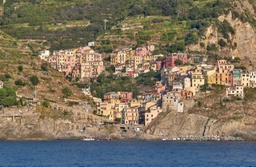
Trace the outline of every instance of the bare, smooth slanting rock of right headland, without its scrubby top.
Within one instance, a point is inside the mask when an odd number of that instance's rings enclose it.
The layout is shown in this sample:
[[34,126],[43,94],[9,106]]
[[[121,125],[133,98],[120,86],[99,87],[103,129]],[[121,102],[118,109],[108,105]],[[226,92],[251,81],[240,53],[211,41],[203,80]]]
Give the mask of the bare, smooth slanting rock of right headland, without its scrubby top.
[[[254,118],[255,121],[255,118]],[[186,137],[186,136],[234,136],[246,140],[256,140],[256,125],[246,125],[244,119],[235,121],[231,119],[217,120],[194,113],[167,113],[158,117],[146,129],[158,137]]]

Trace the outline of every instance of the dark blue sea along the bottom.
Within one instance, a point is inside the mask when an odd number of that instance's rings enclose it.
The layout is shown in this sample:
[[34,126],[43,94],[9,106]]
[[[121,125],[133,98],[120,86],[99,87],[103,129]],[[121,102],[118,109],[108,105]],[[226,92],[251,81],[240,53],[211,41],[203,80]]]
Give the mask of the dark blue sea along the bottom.
[[0,166],[256,166],[256,142],[0,141]]

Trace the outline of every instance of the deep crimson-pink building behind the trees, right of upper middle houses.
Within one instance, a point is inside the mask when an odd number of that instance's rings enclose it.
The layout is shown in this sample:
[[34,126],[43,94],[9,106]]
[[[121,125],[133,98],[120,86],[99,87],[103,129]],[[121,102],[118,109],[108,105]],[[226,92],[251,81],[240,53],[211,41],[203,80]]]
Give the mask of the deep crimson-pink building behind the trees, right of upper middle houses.
[[187,54],[184,53],[174,53],[170,54],[166,57],[165,66],[167,69],[172,68],[175,66],[174,62],[175,60],[181,60],[182,63],[188,62]]

